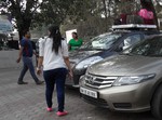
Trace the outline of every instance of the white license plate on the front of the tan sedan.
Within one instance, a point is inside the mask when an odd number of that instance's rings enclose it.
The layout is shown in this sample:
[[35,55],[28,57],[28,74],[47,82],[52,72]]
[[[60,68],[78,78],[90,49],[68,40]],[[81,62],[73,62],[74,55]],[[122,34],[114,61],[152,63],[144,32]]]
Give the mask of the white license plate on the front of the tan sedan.
[[87,89],[84,89],[84,88],[80,88],[80,93],[82,93],[84,95],[87,95],[87,96],[91,96],[91,97],[94,97],[94,98],[97,98],[97,92],[95,92],[95,91],[91,91],[91,90],[87,90]]

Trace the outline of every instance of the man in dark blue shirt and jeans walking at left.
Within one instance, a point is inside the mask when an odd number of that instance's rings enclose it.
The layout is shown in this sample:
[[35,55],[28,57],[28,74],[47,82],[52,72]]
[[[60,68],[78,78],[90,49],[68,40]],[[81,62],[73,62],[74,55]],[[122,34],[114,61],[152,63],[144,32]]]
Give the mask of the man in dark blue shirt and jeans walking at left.
[[18,78],[18,82],[17,82],[18,84],[27,84],[28,83],[28,82],[23,81],[23,78],[28,69],[29,69],[31,77],[33,78],[36,84],[42,84],[44,82],[44,81],[40,81],[35,74],[35,68],[33,68],[33,64],[32,64],[32,54],[33,54],[33,50],[32,50],[32,43],[30,41],[30,32],[25,31],[24,38],[21,41],[19,57],[17,58],[17,63],[19,63],[22,59],[22,56],[23,56],[23,64],[24,64],[23,70]]

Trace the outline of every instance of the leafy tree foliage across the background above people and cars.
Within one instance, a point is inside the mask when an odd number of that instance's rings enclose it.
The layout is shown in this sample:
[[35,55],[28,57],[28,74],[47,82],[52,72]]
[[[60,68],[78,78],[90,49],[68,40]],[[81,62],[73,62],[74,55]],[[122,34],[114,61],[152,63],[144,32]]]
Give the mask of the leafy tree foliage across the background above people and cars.
[[[161,12],[159,3],[157,6],[157,11]],[[139,0],[0,0],[0,13],[15,18],[19,34],[24,29],[50,24],[79,24],[93,29],[92,32],[103,32],[121,12],[133,12],[139,8]]]

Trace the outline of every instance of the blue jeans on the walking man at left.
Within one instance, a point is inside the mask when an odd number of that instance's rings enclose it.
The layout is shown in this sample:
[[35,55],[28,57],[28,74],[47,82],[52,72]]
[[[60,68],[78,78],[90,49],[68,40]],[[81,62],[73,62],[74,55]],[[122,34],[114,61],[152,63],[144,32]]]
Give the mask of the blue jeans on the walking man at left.
[[23,70],[21,72],[21,76],[18,78],[18,81],[22,82],[23,78],[26,74],[26,71],[29,69],[31,77],[33,78],[35,82],[38,82],[39,79],[37,78],[36,74],[35,74],[35,68],[33,68],[33,64],[32,64],[32,57],[23,57]]

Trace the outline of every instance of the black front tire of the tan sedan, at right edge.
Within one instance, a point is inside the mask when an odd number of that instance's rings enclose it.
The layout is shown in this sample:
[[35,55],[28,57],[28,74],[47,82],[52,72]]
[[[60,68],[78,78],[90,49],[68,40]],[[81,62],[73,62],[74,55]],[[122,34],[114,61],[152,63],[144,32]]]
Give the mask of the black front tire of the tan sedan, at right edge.
[[153,95],[151,111],[157,119],[162,120],[162,84],[158,88]]

